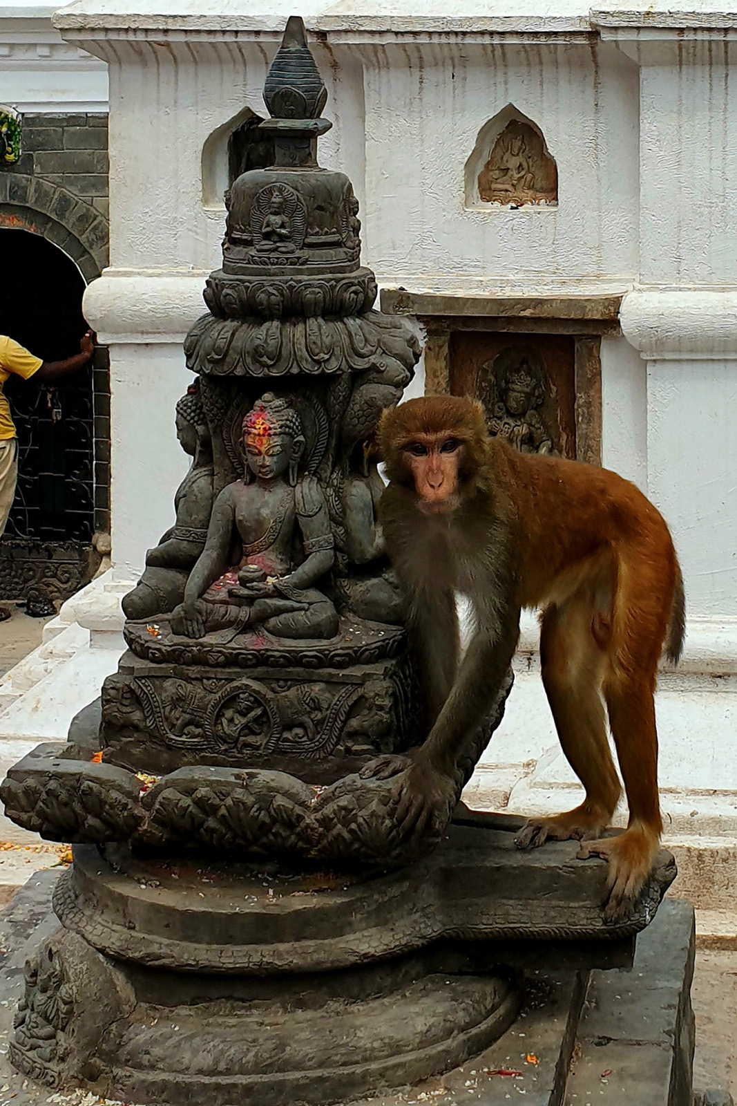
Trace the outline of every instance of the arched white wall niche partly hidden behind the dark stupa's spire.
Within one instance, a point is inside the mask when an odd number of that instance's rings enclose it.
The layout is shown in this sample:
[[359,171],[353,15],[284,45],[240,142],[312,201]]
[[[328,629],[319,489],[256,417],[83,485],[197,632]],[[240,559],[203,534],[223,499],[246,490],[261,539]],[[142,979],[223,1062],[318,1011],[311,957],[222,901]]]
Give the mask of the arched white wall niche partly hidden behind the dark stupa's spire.
[[244,107],[207,138],[202,147],[202,204],[222,211],[223,195],[248,169],[274,164],[274,140],[259,129],[260,115]]

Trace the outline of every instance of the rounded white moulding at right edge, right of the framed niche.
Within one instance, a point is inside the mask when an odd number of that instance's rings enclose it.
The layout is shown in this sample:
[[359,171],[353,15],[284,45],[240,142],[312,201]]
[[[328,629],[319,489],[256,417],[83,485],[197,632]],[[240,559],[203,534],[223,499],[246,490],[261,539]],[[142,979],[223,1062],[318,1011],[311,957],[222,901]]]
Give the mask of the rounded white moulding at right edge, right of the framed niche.
[[737,289],[633,289],[620,324],[647,359],[737,358]]

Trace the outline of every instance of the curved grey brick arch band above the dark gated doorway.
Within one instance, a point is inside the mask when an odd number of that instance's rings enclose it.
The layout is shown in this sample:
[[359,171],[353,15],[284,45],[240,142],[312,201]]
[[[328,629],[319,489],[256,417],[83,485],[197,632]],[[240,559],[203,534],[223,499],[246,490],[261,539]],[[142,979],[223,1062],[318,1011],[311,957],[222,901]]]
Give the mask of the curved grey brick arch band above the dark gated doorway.
[[86,283],[107,264],[108,222],[97,208],[48,180],[0,174],[0,227],[29,230],[64,251]]

